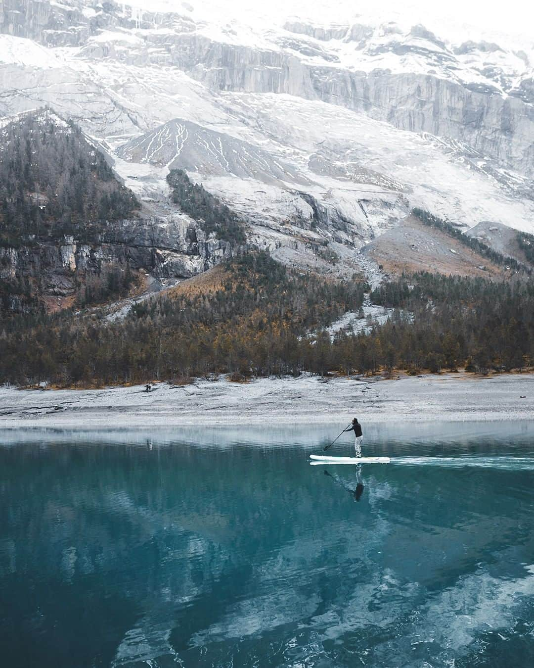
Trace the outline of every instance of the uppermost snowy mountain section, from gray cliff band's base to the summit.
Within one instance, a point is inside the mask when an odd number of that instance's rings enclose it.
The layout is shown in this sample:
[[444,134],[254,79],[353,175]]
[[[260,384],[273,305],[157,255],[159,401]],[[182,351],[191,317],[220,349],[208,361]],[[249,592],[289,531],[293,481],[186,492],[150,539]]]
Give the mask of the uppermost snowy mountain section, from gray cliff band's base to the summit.
[[260,12],[210,13],[204,4],[154,13],[113,2],[5,0],[1,31],[71,47],[61,55],[73,69],[79,57],[155,65],[178,68],[216,92],[324,100],[403,130],[461,140],[533,176],[531,44],[458,43],[423,25],[374,19],[314,25],[286,20],[283,11],[265,21]]

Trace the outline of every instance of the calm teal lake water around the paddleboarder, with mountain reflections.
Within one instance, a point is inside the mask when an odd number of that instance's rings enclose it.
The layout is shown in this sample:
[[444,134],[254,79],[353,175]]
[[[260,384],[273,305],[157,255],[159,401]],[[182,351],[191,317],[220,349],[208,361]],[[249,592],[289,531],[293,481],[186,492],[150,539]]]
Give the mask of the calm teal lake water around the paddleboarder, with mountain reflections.
[[534,665],[534,422],[341,427],[1,432],[2,665]]

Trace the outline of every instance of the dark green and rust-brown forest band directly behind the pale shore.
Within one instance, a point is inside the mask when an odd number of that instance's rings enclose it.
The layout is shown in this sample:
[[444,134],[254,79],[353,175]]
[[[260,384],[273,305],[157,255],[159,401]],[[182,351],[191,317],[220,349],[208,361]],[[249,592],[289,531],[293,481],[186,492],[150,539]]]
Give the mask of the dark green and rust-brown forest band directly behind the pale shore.
[[0,382],[61,387],[143,383],[228,373],[234,379],[392,373],[405,369],[519,371],[534,359],[534,281],[403,276],[371,294],[392,307],[368,331],[328,325],[358,313],[364,281],[333,281],[250,253],[220,280],[134,306],[122,321],[97,311],[3,317]]

